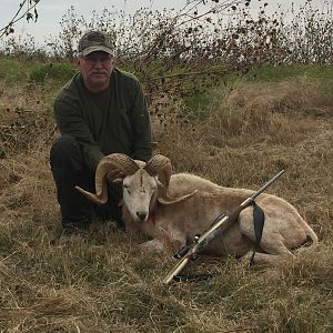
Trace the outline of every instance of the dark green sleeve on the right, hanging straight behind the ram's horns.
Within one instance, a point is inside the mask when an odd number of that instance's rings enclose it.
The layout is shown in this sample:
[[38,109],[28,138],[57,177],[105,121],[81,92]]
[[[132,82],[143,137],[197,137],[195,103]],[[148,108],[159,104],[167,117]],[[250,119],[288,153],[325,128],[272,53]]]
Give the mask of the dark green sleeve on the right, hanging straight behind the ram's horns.
[[134,80],[134,99],[131,107],[132,131],[133,131],[133,159],[148,161],[152,157],[157,145],[151,128],[147,101],[138,80]]

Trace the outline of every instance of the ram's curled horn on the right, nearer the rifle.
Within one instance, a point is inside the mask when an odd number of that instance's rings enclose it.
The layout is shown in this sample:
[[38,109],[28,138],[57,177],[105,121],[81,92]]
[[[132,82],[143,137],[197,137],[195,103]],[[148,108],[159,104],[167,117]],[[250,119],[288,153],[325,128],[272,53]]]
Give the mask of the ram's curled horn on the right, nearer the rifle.
[[175,202],[183,201],[190,196],[192,196],[196,191],[182,195],[179,198],[171,198],[169,196],[169,183],[170,183],[170,178],[172,174],[172,165],[171,161],[161,154],[154,155],[151,160],[147,162],[147,164],[143,167],[143,170],[145,170],[150,175],[155,176],[158,175],[158,179],[162,186],[160,188],[160,193],[159,193],[159,202],[162,204],[171,204]]

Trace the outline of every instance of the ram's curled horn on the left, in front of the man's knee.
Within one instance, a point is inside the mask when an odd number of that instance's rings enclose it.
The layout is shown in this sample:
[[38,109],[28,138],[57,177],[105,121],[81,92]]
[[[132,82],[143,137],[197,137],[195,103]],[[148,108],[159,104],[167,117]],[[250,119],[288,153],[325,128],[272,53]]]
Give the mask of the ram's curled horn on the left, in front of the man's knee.
[[109,174],[108,179],[112,181],[118,178],[133,174],[138,169],[139,165],[130,157],[121,153],[113,153],[102,158],[98,164],[94,176],[95,194],[88,192],[80,186],[75,186],[75,189],[94,203],[103,204],[108,201],[105,175]]

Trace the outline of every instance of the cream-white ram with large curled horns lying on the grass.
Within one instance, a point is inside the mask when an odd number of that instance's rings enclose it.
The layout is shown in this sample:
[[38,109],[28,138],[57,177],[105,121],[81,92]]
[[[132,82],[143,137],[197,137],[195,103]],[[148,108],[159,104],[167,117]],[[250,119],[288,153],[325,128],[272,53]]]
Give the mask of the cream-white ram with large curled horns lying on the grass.
[[[230,214],[253,191],[223,188],[189,173],[172,174],[171,162],[158,154],[147,163],[114,153],[101,160],[95,172],[97,193],[83,194],[98,204],[108,201],[107,180],[123,180],[123,221],[129,232],[143,235],[142,251],[179,249],[204,232],[221,213]],[[265,213],[265,224],[254,261],[274,263],[292,256],[292,249],[310,239],[314,231],[293,205],[275,195],[263,193],[256,203]],[[205,252],[214,256],[243,256],[255,248],[253,206],[245,208],[235,223],[221,232]]]

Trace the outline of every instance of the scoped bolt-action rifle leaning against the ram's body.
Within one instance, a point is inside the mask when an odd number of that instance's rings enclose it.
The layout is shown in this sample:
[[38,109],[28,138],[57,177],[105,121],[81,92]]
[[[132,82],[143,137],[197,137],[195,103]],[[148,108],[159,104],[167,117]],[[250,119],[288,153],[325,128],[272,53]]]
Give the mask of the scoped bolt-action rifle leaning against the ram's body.
[[202,235],[196,235],[194,241],[190,245],[185,245],[180,249],[174,255],[180,261],[173,266],[173,269],[163,279],[164,284],[169,284],[176,275],[185,268],[190,260],[195,260],[198,253],[200,253],[208,244],[210,244],[215,236],[226,230],[232,223],[234,223],[242,210],[244,210],[250,204],[254,203],[254,199],[264,192],[278,178],[284,173],[281,170],[271,180],[264,183],[256,192],[244,200],[230,215],[220,214],[212,223],[212,225],[203,232]]

